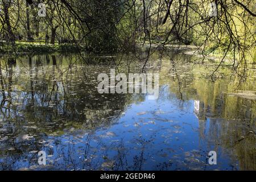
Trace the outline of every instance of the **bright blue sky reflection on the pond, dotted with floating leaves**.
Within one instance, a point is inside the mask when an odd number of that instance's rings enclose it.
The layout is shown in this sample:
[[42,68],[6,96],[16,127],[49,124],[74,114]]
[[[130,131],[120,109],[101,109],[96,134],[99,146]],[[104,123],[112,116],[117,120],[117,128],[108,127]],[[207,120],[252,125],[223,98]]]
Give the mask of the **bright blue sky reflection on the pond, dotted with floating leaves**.
[[[179,102],[146,99],[131,104],[109,128],[49,137],[52,142],[43,150],[53,148],[53,155],[47,154],[47,164],[56,169],[232,169],[236,163],[220,147],[200,139],[194,101]],[[207,164],[211,150],[218,154],[216,166]]]

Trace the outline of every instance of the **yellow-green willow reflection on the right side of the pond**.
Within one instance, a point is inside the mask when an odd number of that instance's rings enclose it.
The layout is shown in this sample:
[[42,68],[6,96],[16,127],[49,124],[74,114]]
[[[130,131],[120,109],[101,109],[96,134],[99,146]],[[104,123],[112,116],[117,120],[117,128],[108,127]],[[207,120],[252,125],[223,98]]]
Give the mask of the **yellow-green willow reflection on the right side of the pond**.
[[[221,146],[232,151],[233,158],[239,160],[241,169],[255,169],[255,101],[226,94],[234,89],[255,90],[254,78],[240,82],[237,78],[230,80],[229,77],[223,77],[212,82],[207,78],[209,67],[197,67],[189,63],[191,57],[184,59],[184,55],[168,57],[171,61],[167,61],[164,67],[170,69],[162,69],[160,72],[169,77],[162,81],[168,83],[171,90],[164,98],[171,101],[180,98],[184,102],[195,100],[200,140],[207,140],[208,144],[217,148]],[[224,71],[223,74],[229,75],[229,72]],[[180,105],[181,100],[177,104]]]

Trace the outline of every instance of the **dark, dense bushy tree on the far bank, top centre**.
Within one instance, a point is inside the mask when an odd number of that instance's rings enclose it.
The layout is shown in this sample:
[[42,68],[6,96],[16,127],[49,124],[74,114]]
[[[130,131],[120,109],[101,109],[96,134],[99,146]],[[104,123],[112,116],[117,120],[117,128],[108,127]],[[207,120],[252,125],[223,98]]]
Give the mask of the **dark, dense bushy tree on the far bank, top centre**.
[[117,0],[92,0],[82,4],[84,12],[92,14],[91,20],[88,22],[89,27],[97,27],[86,36],[86,45],[89,51],[98,53],[118,50],[115,22],[118,22],[122,10],[115,5],[119,2]]

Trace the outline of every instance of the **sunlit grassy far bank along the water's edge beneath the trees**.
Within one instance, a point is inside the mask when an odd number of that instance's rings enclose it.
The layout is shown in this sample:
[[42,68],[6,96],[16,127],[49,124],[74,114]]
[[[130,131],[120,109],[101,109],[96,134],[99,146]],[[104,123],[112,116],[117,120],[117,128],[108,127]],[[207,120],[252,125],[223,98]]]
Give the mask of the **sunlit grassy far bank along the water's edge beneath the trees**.
[[[73,44],[55,44],[55,45],[44,45],[44,44],[37,44],[37,43],[16,43],[15,51],[11,46],[0,46],[0,57],[6,56],[6,55],[13,55],[13,56],[22,56],[22,55],[40,55],[45,53],[76,53],[76,52],[86,52],[86,53],[93,53],[93,51],[89,51],[84,46],[76,46]],[[213,54],[207,54],[203,55],[200,52],[200,47],[195,45],[181,45],[181,44],[143,44],[143,43],[137,43],[136,47],[138,49],[142,49],[144,51],[148,51],[148,49],[166,49],[167,51],[174,51],[177,53],[183,53],[185,55],[193,55],[197,56],[202,59],[209,59],[213,60],[214,62],[218,62],[218,60],[221,60],[223,57],[220,55],[213,55]],[[5,49],[9,49],[8,51],[5,51]],[[103,53],[102,57],[108,56],[109,53]],[[225,57],[223,60],[224,63],[231,64],[233,63],[233,60],[230,60],[229,57]]]

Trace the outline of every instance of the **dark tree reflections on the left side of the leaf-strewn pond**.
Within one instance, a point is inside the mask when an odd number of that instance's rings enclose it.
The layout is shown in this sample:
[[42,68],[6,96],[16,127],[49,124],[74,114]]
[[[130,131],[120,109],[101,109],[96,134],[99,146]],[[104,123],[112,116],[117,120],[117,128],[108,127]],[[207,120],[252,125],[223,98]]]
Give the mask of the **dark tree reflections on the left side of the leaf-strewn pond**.
[[[42,143],[45,134],[62,135],[71,127],[93,130],[108,126],[130,103],[129,95],[98,94],[93,69],[81,67],[69,55],[58,58],[27,56],[19,60],[18,66],[15,59],[1,60],[2,169],[37,164],[37,152],[30,152],[47,148],[45,141]],[[64,65],[59,64],[63,59],[67,59]],[[20,137],[25,137],[24,141],[17,140]],[[70,157],[64,160],[72,162]]]

